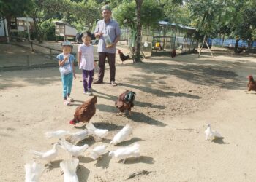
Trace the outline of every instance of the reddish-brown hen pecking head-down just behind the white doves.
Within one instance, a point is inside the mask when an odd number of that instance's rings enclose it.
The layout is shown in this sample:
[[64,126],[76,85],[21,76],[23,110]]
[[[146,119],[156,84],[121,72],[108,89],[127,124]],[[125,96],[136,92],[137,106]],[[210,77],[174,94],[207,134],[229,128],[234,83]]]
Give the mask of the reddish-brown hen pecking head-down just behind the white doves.
[[74,119],[69,124],[77,124],[78,122],[89,122],[92,116],[96,113],[97,97],[94,96],[89,100],[86,100],[81,106],[75,109]]

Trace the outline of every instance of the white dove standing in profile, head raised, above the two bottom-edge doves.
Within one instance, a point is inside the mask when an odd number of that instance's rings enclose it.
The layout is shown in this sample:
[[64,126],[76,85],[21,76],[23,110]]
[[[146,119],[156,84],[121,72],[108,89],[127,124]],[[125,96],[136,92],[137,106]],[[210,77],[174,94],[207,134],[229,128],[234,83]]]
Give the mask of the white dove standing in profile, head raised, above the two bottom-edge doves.
[[50,165],[50,162],[55,159],[58,156],[58,143],[53,144],[53,149],[50,149],[50,151],[46,152],[39,152],[39,151],[33,151],[31,150],[31,154],[34,154],[37,156],[38,159],[45,160],[48,165]]

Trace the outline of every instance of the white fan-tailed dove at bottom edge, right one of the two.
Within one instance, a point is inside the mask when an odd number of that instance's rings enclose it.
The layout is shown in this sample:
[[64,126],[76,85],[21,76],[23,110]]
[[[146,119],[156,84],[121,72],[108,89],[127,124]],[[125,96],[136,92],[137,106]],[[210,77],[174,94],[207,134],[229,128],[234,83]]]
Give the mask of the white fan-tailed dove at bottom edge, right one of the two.
[[64,182],[78,182],[78,175],[76,174],[78,162],[78,158],[61,161],[59,166],[64,171]]

